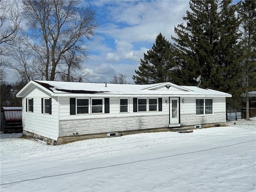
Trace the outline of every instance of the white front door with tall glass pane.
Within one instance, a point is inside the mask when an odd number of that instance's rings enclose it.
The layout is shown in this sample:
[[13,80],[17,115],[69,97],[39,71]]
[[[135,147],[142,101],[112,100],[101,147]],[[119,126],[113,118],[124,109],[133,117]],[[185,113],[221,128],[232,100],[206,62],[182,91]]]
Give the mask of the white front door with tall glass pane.
[[179,98],[170,97],[170,124],[179,124]]

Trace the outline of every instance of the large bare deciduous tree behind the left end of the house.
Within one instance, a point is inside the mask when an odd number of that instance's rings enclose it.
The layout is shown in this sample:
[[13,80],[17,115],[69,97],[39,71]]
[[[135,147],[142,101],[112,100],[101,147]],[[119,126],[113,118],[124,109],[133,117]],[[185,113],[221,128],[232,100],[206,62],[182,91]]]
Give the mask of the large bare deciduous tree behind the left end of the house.
[[88,52],[85,41],[95,36],[98,24],[95,12],[81,6],[79,0],[23,0],[28,36],[34,39],[31,48],[44,65],[46,80],[54,80],[64,68],[63,56],[69,50],[75,54]]

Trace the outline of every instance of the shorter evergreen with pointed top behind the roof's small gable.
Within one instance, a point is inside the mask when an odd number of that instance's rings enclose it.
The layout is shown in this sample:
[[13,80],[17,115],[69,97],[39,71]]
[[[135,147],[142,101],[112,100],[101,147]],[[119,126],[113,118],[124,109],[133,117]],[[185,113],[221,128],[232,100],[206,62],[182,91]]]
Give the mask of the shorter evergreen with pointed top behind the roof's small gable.
[[171,44],[158,34],[156,43],[152,49],[144,53],[144,59],[140,59],[140,66],[135,70],[132,78],[136,84],[152,84],[171,80],[172,58]]

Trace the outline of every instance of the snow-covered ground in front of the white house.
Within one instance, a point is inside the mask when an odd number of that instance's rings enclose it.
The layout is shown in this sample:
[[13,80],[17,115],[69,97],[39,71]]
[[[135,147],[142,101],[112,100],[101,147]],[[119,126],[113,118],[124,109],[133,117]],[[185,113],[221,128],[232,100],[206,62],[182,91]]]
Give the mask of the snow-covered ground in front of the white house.
[[255,192],[256,118],[251,119],[189,134],[143,133],[60,146],[3,134],[0,189]]

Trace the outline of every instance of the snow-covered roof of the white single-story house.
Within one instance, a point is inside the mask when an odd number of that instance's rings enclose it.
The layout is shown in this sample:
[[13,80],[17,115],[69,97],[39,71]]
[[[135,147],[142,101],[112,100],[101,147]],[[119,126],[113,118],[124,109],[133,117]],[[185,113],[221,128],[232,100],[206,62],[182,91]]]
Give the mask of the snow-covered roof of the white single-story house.
[[32,86],[38,86],[47,91],[52,96],[212,96],[231,97],[230,94],[216,90],[202,89],[196,86],[178,86],[170,82],[157,84],[137,85],[137,84],[106,84],[106,83],[85,83],[85,82],[60,82],[60,81],[30,81],[18,94],[22,97]]

